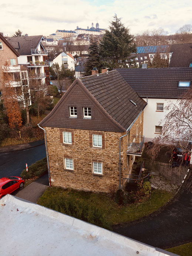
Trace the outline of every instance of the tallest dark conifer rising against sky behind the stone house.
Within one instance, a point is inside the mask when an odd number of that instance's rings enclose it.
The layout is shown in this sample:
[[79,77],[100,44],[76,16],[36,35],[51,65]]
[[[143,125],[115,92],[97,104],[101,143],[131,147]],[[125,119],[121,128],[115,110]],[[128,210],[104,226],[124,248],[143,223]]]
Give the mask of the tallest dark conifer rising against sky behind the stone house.
[[129,28],[121,23],[121,18],[117,18],[117,15],[110,24],[109,30],[105,30],[100,41],[100,54],[110,65],[112,63],[113,68],[127,67],[129,55],[137,51],[133,42],[134,37],[129,33]]

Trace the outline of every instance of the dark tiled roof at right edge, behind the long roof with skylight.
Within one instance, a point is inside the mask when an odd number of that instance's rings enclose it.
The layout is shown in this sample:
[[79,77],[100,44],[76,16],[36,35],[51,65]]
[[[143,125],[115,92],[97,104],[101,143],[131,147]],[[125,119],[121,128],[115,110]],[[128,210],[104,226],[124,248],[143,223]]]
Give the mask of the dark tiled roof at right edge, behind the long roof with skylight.
[[191,44],[172,44],[172,53],[169,67],[189,67],[192,63],[192,43]]

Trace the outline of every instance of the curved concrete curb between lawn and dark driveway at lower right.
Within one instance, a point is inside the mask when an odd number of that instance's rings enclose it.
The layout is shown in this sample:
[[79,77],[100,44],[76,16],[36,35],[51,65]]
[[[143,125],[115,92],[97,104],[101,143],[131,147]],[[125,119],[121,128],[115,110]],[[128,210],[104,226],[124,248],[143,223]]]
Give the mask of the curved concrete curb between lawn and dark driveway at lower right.
[[188,171],[186,172],[186,175],[185,175],[185,177],[184,177],[184,179],[183,179],[181,185],[179,186],[178,190],[176,191],[175,195],[174,195],[172,198],[170,198],[169,201],[167,201],[167,202],[166,202],[164,205],[162,205],[160,208],[158,208],[158,209],[155,210],[154,212],[149,213],[148,215],[143,216],[143,217],[141,217],[141,218],[139,218],[139,219],[137,219],[137,220],[132,220],[132,221],[130,221],[130,222],[124,222],[124,223],[120,223],[120,224],[115,224],[115,225],[112,225],[112,227],[114,227],[114,226],[126,225],[126,224],[129,225],[129,224],[134,223],[134,222],[137,223],[137,222],[139,222],[139,221],[144,220],[145,218],[152,217],[152,216],[154,216],[155,214],[158,214],[159,212],[161,212],[161,210],[163,210],[169,203],[171,203],[172,201],[175,200],[175,197],[177,196],[178,192],[181,190],[181,188],[182,188],[182,186],[183,186],[183,183],[184,183],[186,177],[188,176],[188,174],[189,174],[189,169],[188,169]]

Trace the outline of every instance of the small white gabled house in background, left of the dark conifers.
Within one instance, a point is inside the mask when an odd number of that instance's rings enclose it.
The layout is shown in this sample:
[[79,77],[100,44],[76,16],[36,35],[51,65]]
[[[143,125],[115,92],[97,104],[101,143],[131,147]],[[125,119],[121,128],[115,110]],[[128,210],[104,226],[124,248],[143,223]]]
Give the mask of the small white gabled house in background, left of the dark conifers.
[[64,53],[63,51],[55,54],[54,58],[49,60],[50,67],[55,63],[58,63],[60,66],[64,65],[66,69],[75,70],[75,59],[70,53]]

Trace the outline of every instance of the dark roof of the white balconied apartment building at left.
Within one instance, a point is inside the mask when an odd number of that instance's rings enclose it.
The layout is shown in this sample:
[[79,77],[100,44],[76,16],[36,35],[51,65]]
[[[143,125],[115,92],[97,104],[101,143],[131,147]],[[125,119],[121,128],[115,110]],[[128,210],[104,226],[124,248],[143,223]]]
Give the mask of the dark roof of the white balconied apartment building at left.
[[31,49],[36,49],[43,36],[9,37],[7,41],[20,55],[31,54]]

